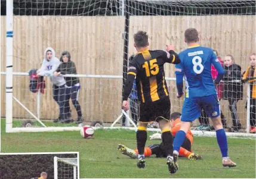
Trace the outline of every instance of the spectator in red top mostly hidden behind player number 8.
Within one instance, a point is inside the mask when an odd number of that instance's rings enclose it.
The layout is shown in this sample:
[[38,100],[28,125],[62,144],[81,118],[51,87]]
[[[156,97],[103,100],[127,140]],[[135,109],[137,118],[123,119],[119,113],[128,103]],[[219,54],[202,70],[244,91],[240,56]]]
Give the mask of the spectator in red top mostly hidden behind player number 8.
[[[216,50],[213,50],[213,51],[214,51],[214,54],[217,56],[218,61],[220,61],[221,65],[223,66],[223,60],[218,55],[218,51]],[[212,65],[211,67],[211,73],[212,73],[212,79],[215,80],[215,78],[217,78],[218,76],[218,71],[214,68],[214,65]],[[223,86],[224,86],[223,82],[220,82],[220,84],[218,84],[216,87],[219,101],[223,98]],[[227,128],[226,118],[224,117],[224,114],[222,111],[220,113],[220,116],[221,116],[221,123],[223,127]],[[204,110],[202,110],[201,116],[198,118],[198,120],[200,125],[196,127],[196,130],[206,130],[206,131],[214,130],[214,127],[209,125],[209,118]]]

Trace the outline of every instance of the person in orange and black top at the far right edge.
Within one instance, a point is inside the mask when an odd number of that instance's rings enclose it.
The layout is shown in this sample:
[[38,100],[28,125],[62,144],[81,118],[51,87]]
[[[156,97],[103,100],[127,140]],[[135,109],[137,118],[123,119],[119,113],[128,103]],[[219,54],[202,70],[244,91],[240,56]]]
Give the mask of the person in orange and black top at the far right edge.
[[[243,74],[242,82],[250,84],[250,133],[255,133],[256,124],[256,70],[255,70],[255,54],[249,56],[250,64]],[[247,105],[245,106],[247,108]]]

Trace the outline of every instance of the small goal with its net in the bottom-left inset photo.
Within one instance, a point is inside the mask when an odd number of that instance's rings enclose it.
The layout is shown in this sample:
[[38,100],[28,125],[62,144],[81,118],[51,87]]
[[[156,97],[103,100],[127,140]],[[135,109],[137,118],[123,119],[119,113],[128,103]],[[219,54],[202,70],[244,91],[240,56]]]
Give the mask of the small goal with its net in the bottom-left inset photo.
[[78,179],[78,158],[54,156],[54,179]]

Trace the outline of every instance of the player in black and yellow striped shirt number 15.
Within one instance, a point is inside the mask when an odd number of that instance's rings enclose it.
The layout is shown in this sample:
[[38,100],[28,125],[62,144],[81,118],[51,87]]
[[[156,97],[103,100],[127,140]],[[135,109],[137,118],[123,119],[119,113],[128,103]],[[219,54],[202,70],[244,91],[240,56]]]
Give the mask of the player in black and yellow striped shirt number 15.
[[172,134],[169,128],[171,102],[165,81],[164,64],[166,62],[178,64],[180,58],[174,52],[174,46],[166,46],[166,51],[150,51],[149,37],[146,32],[139,31],[134,34],[134,46],[137,55],[129,62],[127,80],[124,87],[122,107],[129,109],[127,101],[136,77],[138,100],[140,101],[137,148],[138,168],[145,167],[144,147],[147,141],[147,124],[156,121],[162,130],[162,141],[166,151],[166,164],[170,173],[175,173],[178,166],[172,157]]

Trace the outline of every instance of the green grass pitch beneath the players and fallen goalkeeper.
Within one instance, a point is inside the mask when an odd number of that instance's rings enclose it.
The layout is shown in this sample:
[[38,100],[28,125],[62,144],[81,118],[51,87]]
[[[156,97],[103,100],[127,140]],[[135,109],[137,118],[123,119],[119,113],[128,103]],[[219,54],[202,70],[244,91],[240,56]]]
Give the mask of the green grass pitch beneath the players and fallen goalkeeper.
[[[179,170],[170,176],[164,158],[147,158],[146,168],[138,169],[137,160],[119,153],[119,143],[136,146],[134,131],[97,130],[94,139],[83,139],[79,131],[7,134],[4,123],[1,120],[1,152],[79,152],[80,178],[255,178],[253,139],[228,139],[237,167],[224,168],[215,137],[195,137],[192,149],[203,160],[180,158]],[[160,140],[148,140],[147,145],[153,143]]]

